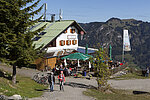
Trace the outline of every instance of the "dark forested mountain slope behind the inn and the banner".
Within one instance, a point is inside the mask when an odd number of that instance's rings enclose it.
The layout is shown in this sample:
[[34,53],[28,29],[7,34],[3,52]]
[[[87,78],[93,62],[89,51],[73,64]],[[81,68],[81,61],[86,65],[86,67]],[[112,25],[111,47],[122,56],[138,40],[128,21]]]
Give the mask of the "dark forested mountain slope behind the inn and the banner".
[[[79,40],[79,45],[89,47],[109,47],[112,46],[112,57],[121,61],[123,29],[129,30],[131,52],[127,54],[125,60],[132,66],[150,66],[150,23],[134,19],[111,18],[106,22],[91,22],[80,24],[87,35],[83,40]],[[80,38],[79,38],[80,39]],[[99,46],[97,44],[99,43]]]

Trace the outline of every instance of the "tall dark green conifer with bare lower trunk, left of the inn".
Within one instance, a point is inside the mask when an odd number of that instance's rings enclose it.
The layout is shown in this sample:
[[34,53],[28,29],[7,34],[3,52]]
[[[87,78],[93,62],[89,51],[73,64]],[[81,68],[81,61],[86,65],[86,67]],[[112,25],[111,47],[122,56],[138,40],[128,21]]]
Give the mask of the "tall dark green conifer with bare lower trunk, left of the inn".
[[[42,17],[31,20],[44,5],[33,11],[41,0],[0,0],[0,61],[13,66],[13,83],[16,83],[16,66],[31,64],[40,55],[32,38],[46,25],[31,32],[29,27]],[[28,3],[31,6],[26,6]]]

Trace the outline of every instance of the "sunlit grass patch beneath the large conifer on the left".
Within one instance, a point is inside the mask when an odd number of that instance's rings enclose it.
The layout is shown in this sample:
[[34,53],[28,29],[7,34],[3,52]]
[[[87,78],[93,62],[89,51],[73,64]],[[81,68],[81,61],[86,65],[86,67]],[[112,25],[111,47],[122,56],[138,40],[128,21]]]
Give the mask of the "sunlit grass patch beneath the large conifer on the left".
[[13,85],[10,80],[0,77],[0,94],[7,96],[12,96],[14,94],[19,94],[22,97],[38,97],[43,94],[43,91],[47,89],[47,86],[37,84],[33,80],[27,77],[17,76],[18,83]]

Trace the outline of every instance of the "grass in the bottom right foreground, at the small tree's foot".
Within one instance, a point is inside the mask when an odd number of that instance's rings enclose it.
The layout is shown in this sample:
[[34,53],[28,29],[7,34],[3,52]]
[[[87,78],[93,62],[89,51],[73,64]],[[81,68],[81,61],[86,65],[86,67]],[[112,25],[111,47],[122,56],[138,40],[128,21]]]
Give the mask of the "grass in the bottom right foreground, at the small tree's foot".
[[134,95],[132,91],[111,89],[112,93],[103,93],[95,89],[84,91],[83,94],[92,96],[96,100],[150,100],[150,95]]

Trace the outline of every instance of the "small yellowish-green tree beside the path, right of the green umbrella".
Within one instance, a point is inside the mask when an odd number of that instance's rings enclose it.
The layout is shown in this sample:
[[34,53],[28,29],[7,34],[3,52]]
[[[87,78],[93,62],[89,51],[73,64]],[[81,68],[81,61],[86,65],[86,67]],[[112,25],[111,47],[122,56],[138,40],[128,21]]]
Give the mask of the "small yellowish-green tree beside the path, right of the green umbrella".
[[103,48],[99,48],[99,50],[95,54],[95,58],[92,59],[94,65],[94,71],[97,77],[98,89],[101,89],[103,86],[107,86],[107,80],[110,76],[110,71],[108,66],[104,63],[104,61],[108,60],[107,50]]

